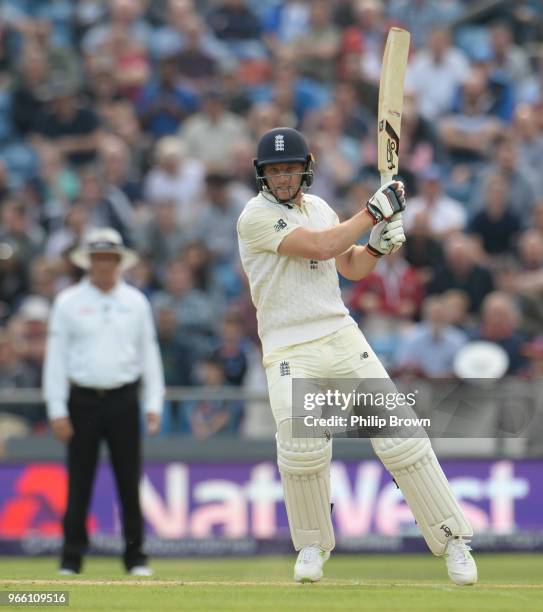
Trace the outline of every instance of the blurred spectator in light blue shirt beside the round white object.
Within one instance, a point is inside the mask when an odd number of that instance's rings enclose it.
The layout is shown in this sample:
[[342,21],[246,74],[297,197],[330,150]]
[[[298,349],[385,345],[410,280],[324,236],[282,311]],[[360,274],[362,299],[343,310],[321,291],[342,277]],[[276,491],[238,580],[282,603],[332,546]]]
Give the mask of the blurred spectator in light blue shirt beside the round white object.
[[462,331],[449,324],[443,298],[426,298],[423,320],[401,340],[395,367],[401,374],[452,378],[454,357],[467,339]]

